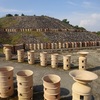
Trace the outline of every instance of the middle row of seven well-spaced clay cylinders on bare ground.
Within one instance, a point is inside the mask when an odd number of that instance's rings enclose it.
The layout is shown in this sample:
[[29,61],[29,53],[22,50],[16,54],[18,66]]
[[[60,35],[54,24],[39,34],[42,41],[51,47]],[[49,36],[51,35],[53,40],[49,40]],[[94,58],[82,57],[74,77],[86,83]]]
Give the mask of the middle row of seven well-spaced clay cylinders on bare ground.
[[[86,69],[87,65],[87,54],[88,52],[79,52],[79,69]],[[24,49],[17,50],[17,59],[18,62],[24,62]],[[58,56],[59,54],[54,53],[51,54],[51,67],[57,68],[58,67]],[[11,49],[5,49],[5,58],[6,60],[12,59]],[[40,52],[40,65],[47,66],[48,64],[48,53],[47,52]],[[29,64],[35,64],[35,52],[30,50],[27,52],[27,60]],[[63,56],[63,69],[68,70],[71,68],[71,55],[64,55]]]

